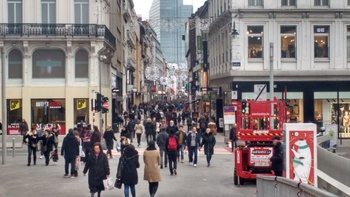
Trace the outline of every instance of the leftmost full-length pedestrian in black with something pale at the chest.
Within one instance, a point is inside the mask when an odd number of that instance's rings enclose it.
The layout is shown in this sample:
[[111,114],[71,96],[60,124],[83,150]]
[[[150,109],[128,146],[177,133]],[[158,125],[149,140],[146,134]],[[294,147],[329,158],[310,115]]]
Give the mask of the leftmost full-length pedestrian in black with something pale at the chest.
[[32,127],[31,131],[27,131],[27,133],[23,136],[23,143],[28,146],[28,163],[27,166],[30,166],[33,154],[33,163],[36,165],[36,150],[38,145],[38,134],[36,132],[36,128]]

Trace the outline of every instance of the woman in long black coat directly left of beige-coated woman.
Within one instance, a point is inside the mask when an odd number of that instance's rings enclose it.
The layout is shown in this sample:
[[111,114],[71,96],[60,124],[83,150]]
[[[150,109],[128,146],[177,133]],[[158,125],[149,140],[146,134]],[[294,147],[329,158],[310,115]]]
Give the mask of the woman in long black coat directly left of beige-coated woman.
[[137,168],[140,167],[139,154],[133,145],[128,145],[123,150],[123,155],[119,159],[117,179],[124,184],[124,196],[136,196],[135,185],[138,183]]

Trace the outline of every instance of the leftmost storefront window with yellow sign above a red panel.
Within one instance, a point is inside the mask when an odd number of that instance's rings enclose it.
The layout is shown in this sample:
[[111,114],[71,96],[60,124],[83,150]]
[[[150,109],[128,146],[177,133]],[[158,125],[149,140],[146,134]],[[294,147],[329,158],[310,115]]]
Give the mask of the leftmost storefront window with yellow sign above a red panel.
[[20,135],[19,123],[22,120],[22,100],[7,100],[7,133],[9,135]]

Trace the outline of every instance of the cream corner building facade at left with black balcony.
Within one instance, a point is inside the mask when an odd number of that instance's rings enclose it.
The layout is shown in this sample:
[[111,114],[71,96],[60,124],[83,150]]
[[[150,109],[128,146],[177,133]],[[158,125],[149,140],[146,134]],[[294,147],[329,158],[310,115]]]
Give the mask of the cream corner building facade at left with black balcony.
[[111,98],[109,2],[1,0],[0,10],[8,133],[18,134],[22,118],[58,123],[62,134],[77,122],[94,123],[91,99],[100,89]]

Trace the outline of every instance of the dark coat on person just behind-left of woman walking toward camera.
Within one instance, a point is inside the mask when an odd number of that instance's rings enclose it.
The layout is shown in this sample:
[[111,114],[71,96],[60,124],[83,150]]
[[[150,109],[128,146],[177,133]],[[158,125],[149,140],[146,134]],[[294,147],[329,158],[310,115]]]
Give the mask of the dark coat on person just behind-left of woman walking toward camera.
[[63,139],[61,155],[64,155],[64,158],[76,158],[79,156],[79,143],[74,134],[68,133]]

